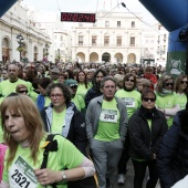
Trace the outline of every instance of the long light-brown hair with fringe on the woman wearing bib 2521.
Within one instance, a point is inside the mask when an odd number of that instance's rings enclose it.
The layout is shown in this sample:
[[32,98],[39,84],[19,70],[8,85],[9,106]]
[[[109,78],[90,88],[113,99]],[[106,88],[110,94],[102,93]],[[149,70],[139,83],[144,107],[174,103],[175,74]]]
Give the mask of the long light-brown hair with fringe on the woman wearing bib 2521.
[[36,155],[39,152],[39,145],[44,136],[43,132],[43,123],[40,116],[40,113],[36,108],[36,105],[30,100],[27,95],[10,95],[1,103],[1,125],[3,129],[3,138],[6,144],[9,146],[10,153],[8,155],[8,163],[7,168],[12,163],[19,143],[17,143],[11,134],[6,128],[6,112],[12,111],[17,114],[20,114],[25,123],[25,127],[29,132],[28,134],[28,142],[29,147],[31,149],[31,158],[33,159],[34,164],[36,163]]

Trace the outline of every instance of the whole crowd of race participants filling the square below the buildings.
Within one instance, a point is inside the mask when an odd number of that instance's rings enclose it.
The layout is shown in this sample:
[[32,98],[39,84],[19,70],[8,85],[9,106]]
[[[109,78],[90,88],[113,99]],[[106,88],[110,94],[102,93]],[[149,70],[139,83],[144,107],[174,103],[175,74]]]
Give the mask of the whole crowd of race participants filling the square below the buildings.
[[0,188],[113,188],[129,159],[134,188],[146,170],[146,188],[186,179],[186,74],[77,62],[13,62],[0,74]]

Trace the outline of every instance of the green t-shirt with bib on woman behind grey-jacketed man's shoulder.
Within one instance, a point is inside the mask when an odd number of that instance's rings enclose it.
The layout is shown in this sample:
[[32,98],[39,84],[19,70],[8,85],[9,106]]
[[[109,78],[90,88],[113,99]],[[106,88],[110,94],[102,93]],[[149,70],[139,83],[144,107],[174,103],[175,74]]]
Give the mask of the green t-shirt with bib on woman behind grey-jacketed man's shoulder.
[[127,92],[123,88],[118,90],[115,94],[116,97],[122,98],[127,107],[128,118],[140,106],[140,93],[137,91]]

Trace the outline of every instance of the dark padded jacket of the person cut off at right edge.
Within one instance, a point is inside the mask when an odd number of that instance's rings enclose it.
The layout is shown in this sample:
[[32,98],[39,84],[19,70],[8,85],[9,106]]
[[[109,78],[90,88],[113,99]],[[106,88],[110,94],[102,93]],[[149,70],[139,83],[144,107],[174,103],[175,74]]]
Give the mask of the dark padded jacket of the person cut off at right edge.
[[164,136],[157,167],[161,188],[170,188],[188,175],[188,112],[179,111]]

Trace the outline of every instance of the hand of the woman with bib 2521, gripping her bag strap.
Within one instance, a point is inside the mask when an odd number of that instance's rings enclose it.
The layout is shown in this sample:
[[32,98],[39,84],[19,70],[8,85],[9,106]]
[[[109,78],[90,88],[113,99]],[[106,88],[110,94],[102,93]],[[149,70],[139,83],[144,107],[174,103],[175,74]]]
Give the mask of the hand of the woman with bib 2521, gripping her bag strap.
[[53,182],[58,182],[62,180],[62,173],[61,171],[53,171],[51,169],[35,169],[34,174],[38,178],[40,185],[50,185]]

